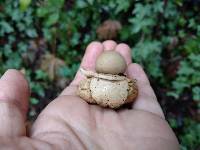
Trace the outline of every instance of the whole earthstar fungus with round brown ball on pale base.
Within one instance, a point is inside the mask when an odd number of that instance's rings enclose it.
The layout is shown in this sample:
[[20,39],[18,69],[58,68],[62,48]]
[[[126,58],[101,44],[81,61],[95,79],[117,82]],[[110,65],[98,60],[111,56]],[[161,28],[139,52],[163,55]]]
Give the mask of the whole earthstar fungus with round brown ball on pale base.
[[87,77],[81,81],[77,95],[88,103],[102,107],[119,108],[137,97],[136,80],[123,74],[127,64],[124,57],[115,51],[104,51],[96,60],[96,72],[80,71]]

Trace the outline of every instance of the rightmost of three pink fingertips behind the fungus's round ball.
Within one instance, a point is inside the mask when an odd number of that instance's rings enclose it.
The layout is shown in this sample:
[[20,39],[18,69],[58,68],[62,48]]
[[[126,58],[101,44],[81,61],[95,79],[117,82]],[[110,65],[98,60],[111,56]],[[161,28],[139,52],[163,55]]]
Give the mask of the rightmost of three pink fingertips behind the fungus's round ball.
[[131,60],[131,49],[127,44],[121,43],[118,44],[115,48],[115,51],[119,52],[126,60],[127,65],[132,63]]

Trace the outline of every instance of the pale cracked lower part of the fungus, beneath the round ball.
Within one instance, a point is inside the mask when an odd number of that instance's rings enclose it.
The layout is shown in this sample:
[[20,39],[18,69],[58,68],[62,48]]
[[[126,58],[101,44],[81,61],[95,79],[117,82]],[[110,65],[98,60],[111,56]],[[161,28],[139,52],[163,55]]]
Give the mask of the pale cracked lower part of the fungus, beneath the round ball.
[[79,84],[77,95],[88,103],[102,107],[119,108],[137,97],[136,80],[112,74],[98,74],[81,69],[87,77]]

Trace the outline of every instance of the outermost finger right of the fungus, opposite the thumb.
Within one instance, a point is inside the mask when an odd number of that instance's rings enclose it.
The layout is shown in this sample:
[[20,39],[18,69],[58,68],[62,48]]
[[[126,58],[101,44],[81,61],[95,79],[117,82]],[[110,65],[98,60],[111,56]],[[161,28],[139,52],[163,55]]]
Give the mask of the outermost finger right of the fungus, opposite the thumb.
[[127,74],[128,77],[135,78],[138,85],[138,97],[133,104],[133,109],[152,112],[164,118],[163,111],[142,67],[138,64],[130,64]]

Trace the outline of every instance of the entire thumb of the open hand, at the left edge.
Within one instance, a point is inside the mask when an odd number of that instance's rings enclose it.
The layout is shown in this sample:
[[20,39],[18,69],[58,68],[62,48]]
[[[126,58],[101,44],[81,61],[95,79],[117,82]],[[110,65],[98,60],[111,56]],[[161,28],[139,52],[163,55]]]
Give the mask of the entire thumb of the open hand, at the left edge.
[[29,88],[24,76],[8,70],[0,79],[0,136],[25,135]]

